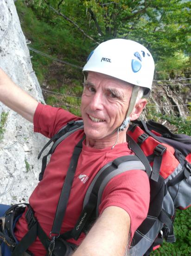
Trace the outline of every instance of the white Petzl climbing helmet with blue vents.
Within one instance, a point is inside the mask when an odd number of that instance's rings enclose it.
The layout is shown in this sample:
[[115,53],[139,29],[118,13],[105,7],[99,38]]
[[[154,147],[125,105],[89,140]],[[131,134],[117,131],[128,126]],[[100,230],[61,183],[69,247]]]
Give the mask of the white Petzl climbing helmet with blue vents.
[[154,61],[141,44],[126,39],[112,39],[101,43],[89,54],[83,72],[107,74],[145,88],[144,97],[151,92]]

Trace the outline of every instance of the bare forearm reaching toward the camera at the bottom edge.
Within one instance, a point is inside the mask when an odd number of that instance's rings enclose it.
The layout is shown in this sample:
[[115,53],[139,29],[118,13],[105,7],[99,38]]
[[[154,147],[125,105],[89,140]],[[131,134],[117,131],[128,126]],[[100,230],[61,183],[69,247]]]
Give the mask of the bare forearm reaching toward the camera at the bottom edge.
[[125,256],[130,217],[116,206],[106,208],[72,256]]

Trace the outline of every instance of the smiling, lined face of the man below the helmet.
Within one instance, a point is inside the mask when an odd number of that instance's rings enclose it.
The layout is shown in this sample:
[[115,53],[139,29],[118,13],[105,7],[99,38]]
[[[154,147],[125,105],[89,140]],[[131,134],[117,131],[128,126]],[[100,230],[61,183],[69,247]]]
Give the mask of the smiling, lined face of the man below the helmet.
[[86,136],[93,140],[108,137],[109,140],[126,117],[131,93],[132,86],[126,82],[89,72],[81,105]]

